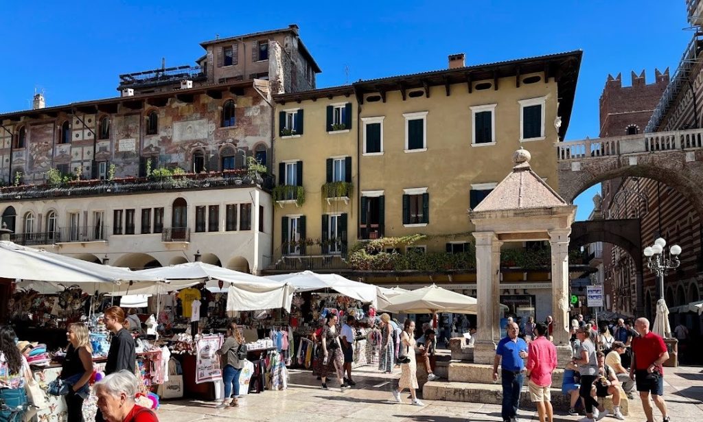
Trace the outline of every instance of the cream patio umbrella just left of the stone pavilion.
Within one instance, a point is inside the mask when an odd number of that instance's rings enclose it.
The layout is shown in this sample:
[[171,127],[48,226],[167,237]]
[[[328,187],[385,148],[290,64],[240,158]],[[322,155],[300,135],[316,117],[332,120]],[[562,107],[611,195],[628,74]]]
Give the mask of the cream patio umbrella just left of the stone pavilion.
[[434,314],[452,312],[457,314],[475,314],[476,299],[456,291],[442,289],[432,284],[422,289],[411,290],[389,298],[390,304],[384,310],[388,312],[406,312],[408,314]]

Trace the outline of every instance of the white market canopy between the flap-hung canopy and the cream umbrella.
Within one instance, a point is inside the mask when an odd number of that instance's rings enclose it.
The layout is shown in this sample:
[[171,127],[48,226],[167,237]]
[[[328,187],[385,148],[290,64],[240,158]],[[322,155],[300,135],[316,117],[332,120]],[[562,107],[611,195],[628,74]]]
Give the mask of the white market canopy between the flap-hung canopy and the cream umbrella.
[[287,282],[295,288],[295,291],[330,289],[357,301],[370,303],[374,308],[378,303],[378,289],[376,286],[355,282],[337,274],[317,274],[312,271],[303,271],[292,274],[271,275],[266,278],[277,282]]

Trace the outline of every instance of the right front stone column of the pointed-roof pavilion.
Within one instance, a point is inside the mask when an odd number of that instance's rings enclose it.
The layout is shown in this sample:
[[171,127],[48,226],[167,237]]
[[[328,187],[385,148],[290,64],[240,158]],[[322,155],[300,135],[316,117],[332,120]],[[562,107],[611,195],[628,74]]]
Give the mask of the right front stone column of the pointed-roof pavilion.
[[571,228],[549,231],[552,249],[553,342],[557,359],[565,365],[572,357],[569,343],[569,235]]

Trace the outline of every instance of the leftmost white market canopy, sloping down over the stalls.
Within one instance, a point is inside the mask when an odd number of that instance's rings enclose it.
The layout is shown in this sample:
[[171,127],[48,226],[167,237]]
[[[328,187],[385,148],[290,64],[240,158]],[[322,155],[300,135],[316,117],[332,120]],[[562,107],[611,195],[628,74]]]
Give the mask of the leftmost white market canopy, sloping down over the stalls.
[[18,286],[57,293],[77,284],[84,291],[110,293],[116,289],[148,288],[162,281],[127,268],[112,267],[0,241],[0,277],[20,279]]

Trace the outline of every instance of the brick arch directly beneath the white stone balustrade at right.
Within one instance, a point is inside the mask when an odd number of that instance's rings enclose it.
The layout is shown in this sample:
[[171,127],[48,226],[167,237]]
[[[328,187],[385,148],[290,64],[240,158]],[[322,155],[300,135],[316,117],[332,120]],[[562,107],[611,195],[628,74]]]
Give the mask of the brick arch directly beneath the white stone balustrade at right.
[[[567,202],[605,180],[641,177],[657,180],[677,190],[703,216],[703,163],[688,161],[692,152],[656,152],[636,156],[600,157],[583,161],[560,161],[559,194]],[[699,155],[700,152],[695,152]],[[700,158],[703,160],[702,157]]]

